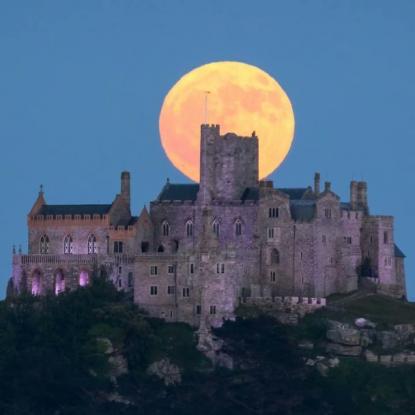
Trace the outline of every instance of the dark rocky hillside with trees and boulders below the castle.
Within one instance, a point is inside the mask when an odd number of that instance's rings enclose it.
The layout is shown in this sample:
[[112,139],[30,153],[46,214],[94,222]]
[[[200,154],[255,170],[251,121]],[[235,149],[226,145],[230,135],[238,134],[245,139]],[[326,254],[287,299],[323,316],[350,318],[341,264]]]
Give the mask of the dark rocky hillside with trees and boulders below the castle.
[[395,319],[384,299],[366,299],[365,313],[365,299],[343,300],[293,326],[241,309],[198,347],[189,326],[147,317],[105,280],[9,299],[0,303],[0,413],[413,414],[415,367],[367,358],[410,354],[413,310]]

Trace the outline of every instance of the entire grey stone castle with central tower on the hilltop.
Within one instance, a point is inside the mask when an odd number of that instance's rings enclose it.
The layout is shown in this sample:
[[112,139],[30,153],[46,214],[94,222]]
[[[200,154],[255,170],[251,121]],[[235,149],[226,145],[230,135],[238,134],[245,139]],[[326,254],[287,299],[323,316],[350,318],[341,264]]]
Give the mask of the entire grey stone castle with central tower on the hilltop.
[[393,217],[369,213],[367,185],[342,202],[329,182],[278,188],[258,180],[258,138],[201,126],[200,184],[167,181],[133,216],[130,174],[106,205],[49,205],[28,215],[28,254],[14,252],[9,293],[59,294],[110,276],[150,315],[198,325],[231,318],[247,298],[320,303],[362,282],[405,297]]

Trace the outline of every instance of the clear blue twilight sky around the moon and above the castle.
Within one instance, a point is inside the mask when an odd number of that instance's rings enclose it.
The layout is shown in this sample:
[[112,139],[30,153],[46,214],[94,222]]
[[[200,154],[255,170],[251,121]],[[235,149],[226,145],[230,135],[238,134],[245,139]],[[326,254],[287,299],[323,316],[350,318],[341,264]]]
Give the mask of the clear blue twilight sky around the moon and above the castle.
[[[187,182],[158,132],[164,96],[202,64],[236,60],[291,99],[291,152],[271,178],[343,200],[368,181],[371,212],[395,216],[415,299],[415,2],[78,0],[0,3],[0,298],[26,215],[49,203],[106,203],[132,173],[133,210]],[[214,120],[212,120],[214,121]]]

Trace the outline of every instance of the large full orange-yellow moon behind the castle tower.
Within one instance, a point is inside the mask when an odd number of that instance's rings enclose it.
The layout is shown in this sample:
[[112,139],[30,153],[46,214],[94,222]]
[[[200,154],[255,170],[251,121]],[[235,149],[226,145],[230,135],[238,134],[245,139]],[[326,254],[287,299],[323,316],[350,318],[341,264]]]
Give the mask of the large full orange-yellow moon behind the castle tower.
[[283,162],[294,137],[287,94],[265,71],[241,62],[213,62],[193,69],[164,99],[159,119],[162,146],[173,165],[196,182],[200,125],[206,122],[220,124],[221,134],[256,132],[260,178]]

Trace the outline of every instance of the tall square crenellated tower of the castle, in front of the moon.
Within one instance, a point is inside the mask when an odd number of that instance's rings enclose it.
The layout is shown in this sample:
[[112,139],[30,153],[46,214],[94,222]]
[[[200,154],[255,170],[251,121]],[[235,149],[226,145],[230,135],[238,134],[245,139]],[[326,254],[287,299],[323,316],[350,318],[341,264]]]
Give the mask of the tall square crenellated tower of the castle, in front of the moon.
[[258,137],[220,135],[219,125],[202,124],[199,200],[240,200],[258,186]]

